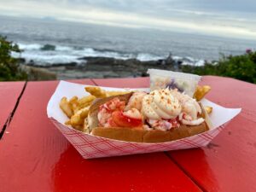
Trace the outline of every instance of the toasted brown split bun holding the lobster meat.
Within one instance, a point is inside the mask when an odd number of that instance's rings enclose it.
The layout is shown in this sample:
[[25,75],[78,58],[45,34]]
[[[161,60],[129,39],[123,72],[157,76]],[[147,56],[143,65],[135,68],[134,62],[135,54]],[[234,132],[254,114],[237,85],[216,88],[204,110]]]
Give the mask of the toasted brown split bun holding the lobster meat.
[[159,130],[141,130],[133,127],[99,127],[99,121],[97,119],[97,113],[99,107],[105,102],[110,101],[113,97],[118,97],[120,101],[124,101],[126,104],[129,101],[132,93],[121,95],[121,96],[110,96],[100,100],[97,100],[90,106],[88,114],[88,123],[90,126],[90,133],[97,137],[106,137],[110,139],[125,141],[125,142],[136,142],[136,143],[164,143],[173,140],[181,139],[184,137],[190,137],[201,132],[208,131],[209,128],[206,122],[201,125],[181,125],[178,128],[174,128],[170,131],[159,131]]

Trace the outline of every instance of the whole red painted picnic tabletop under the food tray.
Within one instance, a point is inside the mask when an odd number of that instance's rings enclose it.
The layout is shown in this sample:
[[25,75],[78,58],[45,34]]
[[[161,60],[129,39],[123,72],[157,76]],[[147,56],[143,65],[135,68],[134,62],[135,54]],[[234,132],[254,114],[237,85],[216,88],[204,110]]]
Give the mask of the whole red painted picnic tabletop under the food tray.
[[[148,78],[82,79],[148,87]],[[58,82],[1,83],[0,191],[256,191],[256,85],[207,76],[207,98],[242,108],[207,148],[84,160],[46,115]],[[23,91],[22,91],[23,90]],[[9,122],[6,124],[6,122]]]

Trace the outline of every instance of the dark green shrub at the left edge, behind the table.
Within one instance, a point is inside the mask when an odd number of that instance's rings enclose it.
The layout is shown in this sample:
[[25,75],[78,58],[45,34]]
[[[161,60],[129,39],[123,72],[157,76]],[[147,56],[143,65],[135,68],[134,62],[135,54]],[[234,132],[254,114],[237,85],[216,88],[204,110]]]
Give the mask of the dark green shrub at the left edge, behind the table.
[[0,36],[0,81],[27,79],[27,74],[20,69],[19,60],[11,56],[12,52],[20,53],[18,45]]

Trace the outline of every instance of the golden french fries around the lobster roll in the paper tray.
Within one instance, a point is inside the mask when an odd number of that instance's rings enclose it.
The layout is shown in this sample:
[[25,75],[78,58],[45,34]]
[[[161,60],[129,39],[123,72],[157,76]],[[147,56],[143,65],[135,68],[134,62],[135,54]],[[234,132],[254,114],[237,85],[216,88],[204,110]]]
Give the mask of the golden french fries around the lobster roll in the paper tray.
[[[90,93],[89,96],[83,96],[79,98],[78,96],[73,96],[71,99],[67,99],[66,96],[62,97],[60,102],[61,110],[67,115],[69,118],[65,125],[71,125],[74,129],[79,131],[88,132],[88,123],[87,123],[87,116],[89,112],[90,105],[96,98],[105,98],[108,96],[118,96],[129,93],[131,91],[107,91],[102,90],[100,87],[96,86],[88,86],[84,88],[85,91]],[[211,90],[210,86],[198,85],[194,98],[196,101],[200,101],[206,94]],[[212,112],[211,107],[205,107],[207,113]]]

